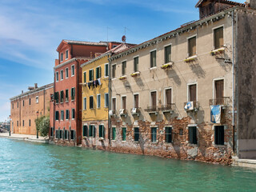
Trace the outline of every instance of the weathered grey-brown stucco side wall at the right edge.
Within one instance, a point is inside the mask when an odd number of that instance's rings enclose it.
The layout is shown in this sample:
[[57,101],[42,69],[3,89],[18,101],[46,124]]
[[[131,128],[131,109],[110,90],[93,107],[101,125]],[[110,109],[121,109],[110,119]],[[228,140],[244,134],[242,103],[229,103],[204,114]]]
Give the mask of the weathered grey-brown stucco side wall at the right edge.
[[[256,158],[256,16],[237,13],[238,150]],[[246,46],[245,46],[246,45]]]

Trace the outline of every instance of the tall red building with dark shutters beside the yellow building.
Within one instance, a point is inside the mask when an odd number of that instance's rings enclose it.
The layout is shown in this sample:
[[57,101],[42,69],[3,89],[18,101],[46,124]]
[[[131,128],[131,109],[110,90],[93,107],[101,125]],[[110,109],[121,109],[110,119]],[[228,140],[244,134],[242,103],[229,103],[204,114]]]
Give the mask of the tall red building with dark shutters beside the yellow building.
[[82,63],[105,53],[120,42],[62,40],[54,66],[54,95],[50,102],[50,142],[80,145],[82,139]]

